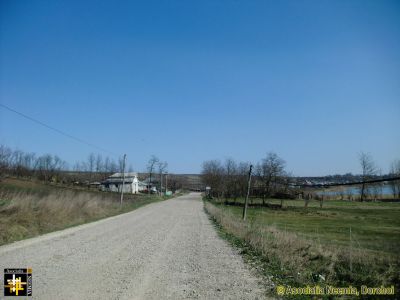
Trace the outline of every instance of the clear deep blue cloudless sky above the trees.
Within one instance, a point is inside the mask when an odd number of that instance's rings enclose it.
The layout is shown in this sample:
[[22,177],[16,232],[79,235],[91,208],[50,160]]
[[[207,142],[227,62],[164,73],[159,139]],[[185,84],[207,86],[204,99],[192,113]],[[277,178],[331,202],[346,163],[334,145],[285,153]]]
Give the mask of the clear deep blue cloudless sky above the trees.
[[[136,171],[208,159],[294,175],[400,159],[400,2],[0,1],[0,101]],[[98,152],[0,107],[0,143]],[[107,153],[103,153],[107,155]]]

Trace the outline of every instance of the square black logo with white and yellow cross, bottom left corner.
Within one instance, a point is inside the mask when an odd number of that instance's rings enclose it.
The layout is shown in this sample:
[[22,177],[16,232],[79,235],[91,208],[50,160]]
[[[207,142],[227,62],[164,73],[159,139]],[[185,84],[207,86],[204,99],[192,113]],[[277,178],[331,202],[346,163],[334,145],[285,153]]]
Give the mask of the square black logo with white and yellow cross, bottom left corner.
[[4,296],[32,296],[32,269],[4,269]]

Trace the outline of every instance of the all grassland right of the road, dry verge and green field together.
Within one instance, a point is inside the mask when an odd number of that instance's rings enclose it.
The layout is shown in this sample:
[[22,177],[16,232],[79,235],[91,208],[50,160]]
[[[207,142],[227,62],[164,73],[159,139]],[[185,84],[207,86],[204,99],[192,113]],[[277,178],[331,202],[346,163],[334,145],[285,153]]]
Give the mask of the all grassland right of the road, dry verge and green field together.
[[400,203],[329,200],[321,208],[310,201],[306,208],[284,200],[282,208],[250,206],[246,221],[241,203],[206,200],[205,209],[222,236],[276,284],[400,288]]

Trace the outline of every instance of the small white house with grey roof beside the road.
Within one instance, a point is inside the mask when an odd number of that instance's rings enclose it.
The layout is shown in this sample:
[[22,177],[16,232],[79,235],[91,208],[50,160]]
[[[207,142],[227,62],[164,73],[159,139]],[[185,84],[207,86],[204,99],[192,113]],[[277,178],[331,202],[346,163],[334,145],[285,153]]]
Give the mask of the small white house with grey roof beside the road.
[[137,173],[115,173],[101,183],[102,191],[121,192],[122,181],[124,182],[124,193],[137,194],[139,192],[139,180]]

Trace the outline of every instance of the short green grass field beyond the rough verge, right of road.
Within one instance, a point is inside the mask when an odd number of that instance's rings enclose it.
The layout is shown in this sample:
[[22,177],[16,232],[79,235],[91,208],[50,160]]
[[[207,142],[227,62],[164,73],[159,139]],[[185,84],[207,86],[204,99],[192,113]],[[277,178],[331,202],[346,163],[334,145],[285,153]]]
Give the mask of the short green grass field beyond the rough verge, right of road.
[[[280,200],[268,199],[268,203],[280,204]],[[350,245],[351,228],[352,247],[382,255],[398,255],[400,202],[329,200],[324,201],[322,208],[319,201],[310,201],[308,208],[302,200],[285,200],[283,204],[283,209],[277,210],[249,207],[249,220],[294,232],[322,244],[340,246]],[[242,214],[241,207],[226,208],[238,217]]]

